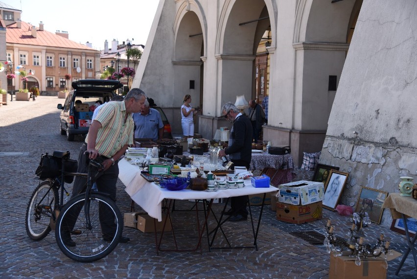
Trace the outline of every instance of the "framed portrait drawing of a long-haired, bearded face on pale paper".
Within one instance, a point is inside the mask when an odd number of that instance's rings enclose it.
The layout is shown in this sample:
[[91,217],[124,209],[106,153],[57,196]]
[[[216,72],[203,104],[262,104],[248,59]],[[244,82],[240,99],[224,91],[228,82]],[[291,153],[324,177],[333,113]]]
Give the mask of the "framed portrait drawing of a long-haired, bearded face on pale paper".
[[330,170],[329,177],[324,184],[323,207],[334,211],[345,187],[348,173]]

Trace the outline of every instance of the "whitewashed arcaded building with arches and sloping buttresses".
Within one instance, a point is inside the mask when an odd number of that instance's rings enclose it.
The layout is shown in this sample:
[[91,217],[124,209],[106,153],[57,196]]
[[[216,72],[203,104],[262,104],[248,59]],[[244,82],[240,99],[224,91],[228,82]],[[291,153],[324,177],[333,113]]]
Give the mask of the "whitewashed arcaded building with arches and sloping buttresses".
[[[209,139],[229,125],[222,104],[268,94],[263,139],[290,145],[298,167],[303,152],[321,151],[320,163],[348,174],[340,203],[355,209],[361,187],[393,193],[399,177],[416,177],[416,9],[407,0],[160,0],[133,86],[172,108],[173,127],[190,94]],[[382,224],[391,221],[385,211]]]

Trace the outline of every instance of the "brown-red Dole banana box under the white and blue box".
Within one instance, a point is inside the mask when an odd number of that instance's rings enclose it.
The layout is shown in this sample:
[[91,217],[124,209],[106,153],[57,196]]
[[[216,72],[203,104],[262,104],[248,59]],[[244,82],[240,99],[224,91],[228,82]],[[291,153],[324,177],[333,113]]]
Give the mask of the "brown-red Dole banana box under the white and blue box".
[[[282,190],[280,189],[280,192]],[[293,205],[277,202],[277,219],[280,221],[302,224],[322,219],[322,202],[310,203],[306,205]]]

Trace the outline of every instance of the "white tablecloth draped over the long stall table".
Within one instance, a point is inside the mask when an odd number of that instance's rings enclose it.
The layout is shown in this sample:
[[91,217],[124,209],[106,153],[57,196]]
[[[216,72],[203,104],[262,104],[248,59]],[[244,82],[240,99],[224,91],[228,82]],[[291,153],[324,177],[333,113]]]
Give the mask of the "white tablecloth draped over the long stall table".
[[140,176],[139,167],[130,164],[126,159],[120,160],[119,178],[126,186],[125,191],[135,203],[145,210],[149,216],[162,221],[162,201],[163,199],[173,200],[210,200],[217,198],[230,198],[238,196],[255,195],[277,191],[276,187],[255,188],[251,185],[251,180],[245,180],[245,187],[240,189],[225,189],[215,192],[193,191],[184,189],[181,191],[170,191],[161,188],[153,182],[146,181]]

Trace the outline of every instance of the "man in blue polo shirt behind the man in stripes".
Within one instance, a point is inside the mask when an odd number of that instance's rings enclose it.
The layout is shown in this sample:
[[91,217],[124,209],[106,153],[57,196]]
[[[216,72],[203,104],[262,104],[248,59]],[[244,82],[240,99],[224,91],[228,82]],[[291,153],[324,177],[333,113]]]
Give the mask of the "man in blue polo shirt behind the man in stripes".
[[145,138],[157,141],[163,137],[163,123],[161,114],[154,108],[149,108],[148,100],[144,108],[133,114],[135,122],[134,138]]

